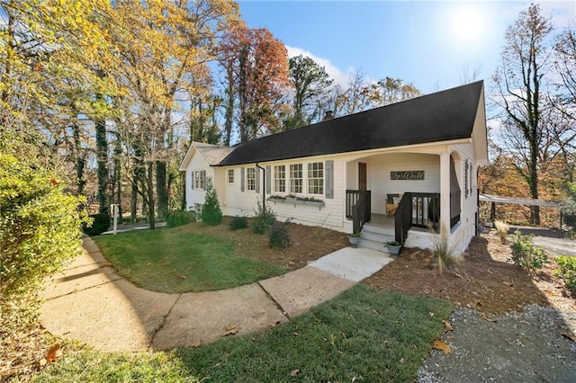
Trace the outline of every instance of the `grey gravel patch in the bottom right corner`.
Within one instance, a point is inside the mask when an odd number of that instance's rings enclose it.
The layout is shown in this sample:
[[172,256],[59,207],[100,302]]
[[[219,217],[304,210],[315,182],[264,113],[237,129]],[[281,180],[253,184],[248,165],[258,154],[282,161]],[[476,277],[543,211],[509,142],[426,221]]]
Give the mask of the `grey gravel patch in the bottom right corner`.
[[432,351],[417,382],[576,382],[576,313],[531,305],[522,313],[485,316],[458,308],[454,330],[443,341],[444,355]]

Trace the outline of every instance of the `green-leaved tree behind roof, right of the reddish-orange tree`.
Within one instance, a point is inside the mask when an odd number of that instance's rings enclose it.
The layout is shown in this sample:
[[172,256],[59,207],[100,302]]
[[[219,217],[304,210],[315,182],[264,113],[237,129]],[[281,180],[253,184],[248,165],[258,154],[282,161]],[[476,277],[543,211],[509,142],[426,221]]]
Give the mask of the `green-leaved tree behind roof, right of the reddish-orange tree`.
[[324,67],[302,55],[290,58],[289,68],[293,86],[293,116],[286,128],[292,129],[320,120],[321,105],[326,103],[334,80],[330,79]]

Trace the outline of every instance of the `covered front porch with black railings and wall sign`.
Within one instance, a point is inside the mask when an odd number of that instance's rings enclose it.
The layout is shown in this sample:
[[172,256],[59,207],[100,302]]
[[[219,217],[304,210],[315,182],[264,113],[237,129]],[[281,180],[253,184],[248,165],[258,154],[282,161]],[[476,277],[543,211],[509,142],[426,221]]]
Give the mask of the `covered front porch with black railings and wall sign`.
[[404,245],[411,230],[430,242],[443,225],[455,227],[461,199],[456,164],[457,156],[428,153],[382,154],[348,162],[346,218],[351,231],[365,237],[368,225],[370,233],[381,236],[366,237]]

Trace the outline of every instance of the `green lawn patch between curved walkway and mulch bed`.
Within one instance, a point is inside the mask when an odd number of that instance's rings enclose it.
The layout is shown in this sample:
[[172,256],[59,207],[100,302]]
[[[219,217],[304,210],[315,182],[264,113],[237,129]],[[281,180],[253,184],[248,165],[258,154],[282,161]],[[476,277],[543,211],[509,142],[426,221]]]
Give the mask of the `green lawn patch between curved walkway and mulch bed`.
[[286,272],[240,258],[234,241],[180,227],[95,236],[116,272],[143,289],[167,293],[229,289]]

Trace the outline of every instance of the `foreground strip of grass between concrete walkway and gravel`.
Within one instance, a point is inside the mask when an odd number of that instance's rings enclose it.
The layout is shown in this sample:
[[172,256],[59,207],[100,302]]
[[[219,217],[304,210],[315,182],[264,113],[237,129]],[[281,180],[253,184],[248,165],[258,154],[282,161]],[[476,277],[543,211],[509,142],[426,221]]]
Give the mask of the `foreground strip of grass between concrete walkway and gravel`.
[[39,381],[411,382],[453,308],[361,284],[264,333],[197,349],[65,353]]

